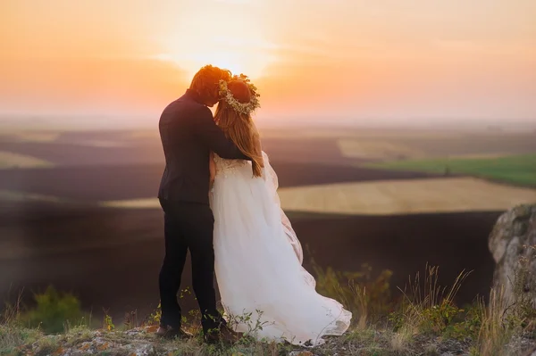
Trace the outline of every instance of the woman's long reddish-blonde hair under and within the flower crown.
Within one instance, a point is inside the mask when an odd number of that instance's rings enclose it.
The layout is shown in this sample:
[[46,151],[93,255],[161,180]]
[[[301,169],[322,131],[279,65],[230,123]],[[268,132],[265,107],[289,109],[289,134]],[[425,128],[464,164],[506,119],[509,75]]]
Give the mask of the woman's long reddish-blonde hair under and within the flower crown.
[[[252,93],[243,80],[231,80],[227,88],[239,103],[250,103]],[[251,158],[253,177],[261,177],[264,167],[260,138],[251,113],[237,112],[226,100],[218,103],[214,120],[222,128],[225,136],[237,145],[239,150]]]

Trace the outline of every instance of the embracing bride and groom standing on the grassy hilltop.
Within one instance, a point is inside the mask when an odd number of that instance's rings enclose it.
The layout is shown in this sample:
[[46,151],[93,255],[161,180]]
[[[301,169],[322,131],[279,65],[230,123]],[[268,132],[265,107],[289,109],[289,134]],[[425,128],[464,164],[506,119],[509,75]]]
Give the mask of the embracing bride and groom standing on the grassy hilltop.
[[[213,117],[208,107],[216,103]],[[348,329],[352,314],[317,294],[314,277],[302,267],[301,245],[281,210],[277,176],[252,120],[258,107],[259,94],[246,76],[208,65],[163,110],[165,257],[157,335],[188,336],[177,301],[188,250],[208,343],[247,333],[314,346]],[[214,270],[223,316],[216,309]]]

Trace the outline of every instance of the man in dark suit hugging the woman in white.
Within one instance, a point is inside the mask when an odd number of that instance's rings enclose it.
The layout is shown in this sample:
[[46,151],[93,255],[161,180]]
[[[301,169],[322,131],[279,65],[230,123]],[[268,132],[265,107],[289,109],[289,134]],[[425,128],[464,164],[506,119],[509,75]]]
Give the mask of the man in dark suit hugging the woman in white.
[[216,126],[207,106],[220,99],[220,80],[229,70],[207,65],[197,72],[186,94],[170,103],[160,117],[165,170],[158,192],[164,212],[165,257],[160,271],[162,319],[157,335],[187,336],[180,329],[177,302],[188,250],[192,284],[201,310],[205,341],[230,339],[232,331],[216,310],[214,291],[214,216],[208,202],[209,153],[249,160]]

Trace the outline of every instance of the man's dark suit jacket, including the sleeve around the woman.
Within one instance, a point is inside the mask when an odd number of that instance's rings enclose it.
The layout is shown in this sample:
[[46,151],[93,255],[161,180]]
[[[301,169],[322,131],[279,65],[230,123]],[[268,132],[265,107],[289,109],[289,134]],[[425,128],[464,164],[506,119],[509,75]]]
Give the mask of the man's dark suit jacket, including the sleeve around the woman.
[[163,110],[159,128],[165,155],[160,199],[208,204],[210,151],[222,158],[250,160],[225,137],[210,109],[190,89]]

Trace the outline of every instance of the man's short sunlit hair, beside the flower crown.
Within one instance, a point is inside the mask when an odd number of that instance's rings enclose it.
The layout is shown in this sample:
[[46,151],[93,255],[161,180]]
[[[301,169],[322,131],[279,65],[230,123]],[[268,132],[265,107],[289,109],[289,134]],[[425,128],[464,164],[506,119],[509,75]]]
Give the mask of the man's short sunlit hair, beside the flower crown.
[[205,65],[197,71],[190,89],[197,92],[204,102],[217,102],[219,99],[220,80],[230,80],[230,70],[222,70],[212,65]]

